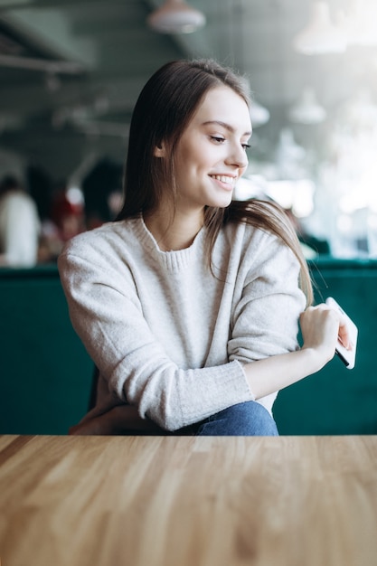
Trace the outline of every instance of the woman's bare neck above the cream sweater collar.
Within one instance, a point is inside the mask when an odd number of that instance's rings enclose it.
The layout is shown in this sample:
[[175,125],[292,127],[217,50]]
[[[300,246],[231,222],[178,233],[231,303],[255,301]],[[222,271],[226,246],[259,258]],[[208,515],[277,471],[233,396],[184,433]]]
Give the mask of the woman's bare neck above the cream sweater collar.
[[176,211],[173,216],[159,210],[146,214],[144,222],[160,250],[184,250],[191,246],[196,234],[202,229],[204,213],[182,214]]

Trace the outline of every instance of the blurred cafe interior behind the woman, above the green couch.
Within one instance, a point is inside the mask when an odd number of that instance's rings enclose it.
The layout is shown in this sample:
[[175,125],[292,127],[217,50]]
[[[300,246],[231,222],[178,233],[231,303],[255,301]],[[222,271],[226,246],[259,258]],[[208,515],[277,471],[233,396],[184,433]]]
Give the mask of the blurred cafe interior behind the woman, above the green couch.
[[212,57],[252,93],[236,196],[276,200],[335,258],[376,257],[376,23],[374,0],[0,0],[0,174],[44,222],[58,189],[109,220],[142,86]]

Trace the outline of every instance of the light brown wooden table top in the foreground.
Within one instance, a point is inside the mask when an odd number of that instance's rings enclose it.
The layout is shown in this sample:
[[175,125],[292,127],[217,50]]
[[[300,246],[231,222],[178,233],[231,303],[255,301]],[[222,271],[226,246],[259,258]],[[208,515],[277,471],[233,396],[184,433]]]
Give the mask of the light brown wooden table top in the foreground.
[[377,437],[0,436],[1,566],[374,566]]

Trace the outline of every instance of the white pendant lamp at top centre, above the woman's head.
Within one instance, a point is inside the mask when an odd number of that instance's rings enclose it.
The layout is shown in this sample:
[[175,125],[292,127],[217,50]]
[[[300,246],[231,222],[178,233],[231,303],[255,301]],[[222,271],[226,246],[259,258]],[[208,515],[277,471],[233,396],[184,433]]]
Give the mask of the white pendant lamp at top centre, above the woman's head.
[[159,33],[193,33],[205,25],[205,15],[184,0],[165,0],[146,23]]

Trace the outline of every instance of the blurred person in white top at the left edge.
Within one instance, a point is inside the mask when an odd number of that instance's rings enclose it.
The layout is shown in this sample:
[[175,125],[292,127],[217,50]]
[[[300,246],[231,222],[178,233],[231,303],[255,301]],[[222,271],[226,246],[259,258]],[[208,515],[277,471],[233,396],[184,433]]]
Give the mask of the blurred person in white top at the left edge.
[[13,175],[0,182],[0,265],[33,267],[41,222],[36,204]]

